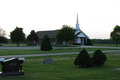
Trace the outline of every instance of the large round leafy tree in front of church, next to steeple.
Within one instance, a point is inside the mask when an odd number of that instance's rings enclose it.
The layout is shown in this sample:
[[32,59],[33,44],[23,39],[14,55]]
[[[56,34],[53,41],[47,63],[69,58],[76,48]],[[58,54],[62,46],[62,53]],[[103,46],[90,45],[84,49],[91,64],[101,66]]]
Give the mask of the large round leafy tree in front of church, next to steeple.
[[57,41],[64,41],[67,45],[68,41],[75,41],[75,29],[71,28],[70,26],[63,25],[63,27],[57,32],[55,38]]

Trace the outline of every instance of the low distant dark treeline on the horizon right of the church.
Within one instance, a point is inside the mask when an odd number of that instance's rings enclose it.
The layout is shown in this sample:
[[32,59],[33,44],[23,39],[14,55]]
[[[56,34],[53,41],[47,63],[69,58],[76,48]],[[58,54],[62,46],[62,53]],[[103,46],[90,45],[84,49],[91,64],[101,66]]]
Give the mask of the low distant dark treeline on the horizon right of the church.
[[[112,41],[111,39],[91,39],[93,44],[116,44],[116,42]],[[120,44],[120,41],[118,42]]]

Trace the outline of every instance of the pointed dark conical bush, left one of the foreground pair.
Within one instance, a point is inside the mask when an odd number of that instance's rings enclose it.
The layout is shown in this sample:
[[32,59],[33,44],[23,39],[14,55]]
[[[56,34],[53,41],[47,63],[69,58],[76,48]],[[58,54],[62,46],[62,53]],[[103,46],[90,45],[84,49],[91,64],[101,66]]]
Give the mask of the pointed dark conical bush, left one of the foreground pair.
[[74,60],[74,65],[79,67],[91,67],[92,62],[88,52],[83,49]]

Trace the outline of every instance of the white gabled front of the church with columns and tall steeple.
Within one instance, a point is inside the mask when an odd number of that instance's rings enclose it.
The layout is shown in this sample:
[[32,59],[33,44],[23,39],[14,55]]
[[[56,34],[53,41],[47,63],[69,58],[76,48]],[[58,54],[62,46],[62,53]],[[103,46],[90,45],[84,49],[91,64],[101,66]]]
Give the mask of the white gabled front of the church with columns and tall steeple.
[[77,35],[77,38],[75,39],[75,43],[84,45],[87,43],[87,39],[89,37],[80,29],[79,23],[78,23],[78,14],[77,14],[77,22],[76,22],[76,28],[75,28],[75,35]]

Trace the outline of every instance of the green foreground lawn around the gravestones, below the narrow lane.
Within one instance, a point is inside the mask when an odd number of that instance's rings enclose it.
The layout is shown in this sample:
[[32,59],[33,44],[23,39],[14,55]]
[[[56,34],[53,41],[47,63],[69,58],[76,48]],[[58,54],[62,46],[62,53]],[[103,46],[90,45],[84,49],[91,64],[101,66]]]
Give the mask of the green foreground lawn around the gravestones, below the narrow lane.
[[[92,54],[90,54],[92,55]],[[1,80],[120,80],[120,53],[105,53],[104,66],[78,68],[75,55],[27,57],[22,64],[25,76],[1,78]],[[54,64],[43,64],[45,58],[53,58]],[[0,65],[1,68],[1,65]]]

